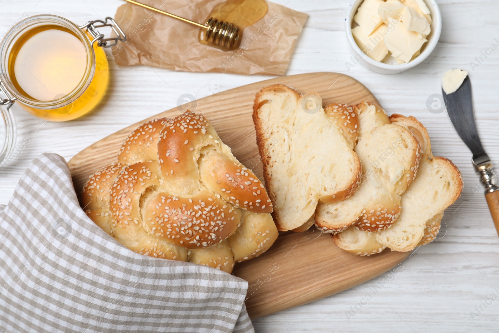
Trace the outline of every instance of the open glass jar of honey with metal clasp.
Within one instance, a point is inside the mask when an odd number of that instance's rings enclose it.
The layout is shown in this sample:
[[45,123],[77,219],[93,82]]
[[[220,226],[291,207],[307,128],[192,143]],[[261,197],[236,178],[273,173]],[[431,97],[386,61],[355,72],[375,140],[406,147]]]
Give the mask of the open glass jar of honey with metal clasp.
[[[116,37],[97,29],[109,26]],[[90,112],[104,97],[109,66],[103,47],[126,37],[111,18],[78,26],[55,15],[36,15],[14,25],[0,44],[0,89],[6,107],[67,121]],[[113,41],[113,42],[111,42]]]

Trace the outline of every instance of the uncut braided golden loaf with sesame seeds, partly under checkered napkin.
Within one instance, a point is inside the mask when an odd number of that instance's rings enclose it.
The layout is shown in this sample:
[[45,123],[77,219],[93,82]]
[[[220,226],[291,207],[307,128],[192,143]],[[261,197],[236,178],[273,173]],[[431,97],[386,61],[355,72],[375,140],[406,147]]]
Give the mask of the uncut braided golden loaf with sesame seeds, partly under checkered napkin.
[[118,161],[90,177],[82,205],[134,252],[230,273],[277,238],[263,184],[200,114],[143,124]]

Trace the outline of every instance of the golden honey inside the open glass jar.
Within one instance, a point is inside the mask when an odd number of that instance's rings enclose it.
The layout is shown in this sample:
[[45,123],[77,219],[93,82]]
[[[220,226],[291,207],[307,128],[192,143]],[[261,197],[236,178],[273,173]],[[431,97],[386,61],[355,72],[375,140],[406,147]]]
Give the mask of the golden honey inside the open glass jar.
[[[10,81],[24,97],[53,101],[53,106],[34,108],[20,101],[19,105],[51,121],[75,119],[89,112],[103,98],[109,79],[104,50],[94,43],[93,51],[95,69],[92,71],[89,58],[93,55],[88,54],[88,46],[70,29],[46,24],[24,32],[8,55]],[[75,98],[68,100],[71,94]]]

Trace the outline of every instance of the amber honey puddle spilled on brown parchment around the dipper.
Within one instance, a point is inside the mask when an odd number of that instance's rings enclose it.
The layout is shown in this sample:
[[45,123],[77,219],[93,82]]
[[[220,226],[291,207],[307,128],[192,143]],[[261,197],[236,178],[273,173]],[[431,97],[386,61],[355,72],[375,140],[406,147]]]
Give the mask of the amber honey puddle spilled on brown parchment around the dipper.
[[229,0],[213,8],[208,19],[230,22],[239,27],[239,42],[231,47],[223,47],[205,40],[206,29],[200,29],[198,40],[204,45],[220,48],[224,51],[237,49],[241,44],[243,30],[261,19],[268,11],[268,5],[264,0]]

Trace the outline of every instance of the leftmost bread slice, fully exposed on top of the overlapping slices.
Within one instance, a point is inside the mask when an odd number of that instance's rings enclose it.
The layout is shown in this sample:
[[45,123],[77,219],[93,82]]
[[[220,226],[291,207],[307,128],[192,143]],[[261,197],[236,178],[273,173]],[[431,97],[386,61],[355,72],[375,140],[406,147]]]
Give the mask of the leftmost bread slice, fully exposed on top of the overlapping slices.
[[256,94],[253,122],[278,230],[306,230],[319,202],[344,200],[357,188],[361,164],[353,151],[353,108],[322,108],[316,93],[302,96],[276,84]]

